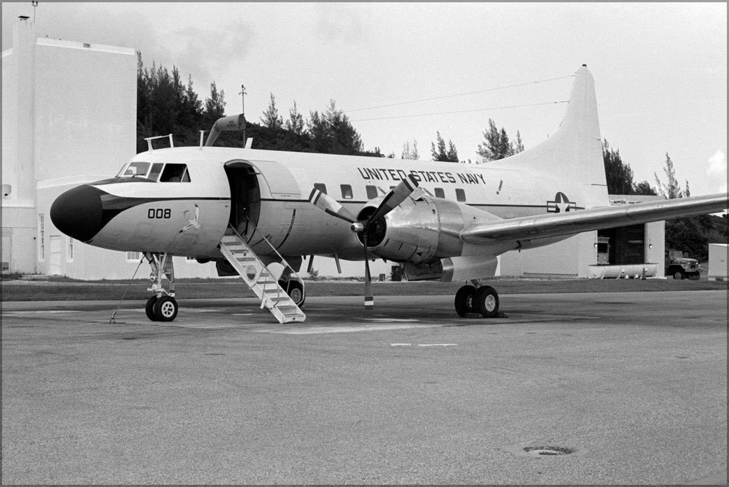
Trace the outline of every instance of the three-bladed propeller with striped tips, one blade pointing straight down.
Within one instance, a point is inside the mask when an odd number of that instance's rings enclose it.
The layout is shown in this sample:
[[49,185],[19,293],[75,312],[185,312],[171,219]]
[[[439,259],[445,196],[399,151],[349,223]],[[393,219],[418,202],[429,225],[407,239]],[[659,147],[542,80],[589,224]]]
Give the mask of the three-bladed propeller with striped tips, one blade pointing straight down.
[[375,298],[372,292],[372,276],[370,275],[370,256],[367,253],[367,234],[369,234],[370,228],[380,218],[383,218],[389,212],[399,206],[400,203],[404,202],[405,199],[410,196],[418,188],[418,182],[412,175],[408,175],[404,180],[392,188],[389,193],[380,202],[377,209],[370,214],[365,220],[359,221],[354,215],[351,214],[345,207],[343,207],[337,200],[322,193],[318,189],[314,188],[311,190],[309,195],[309,202],[321,210],[329,213],[330,215],[340,218],[340,220],[351,223],[349,227],[351,231],[356,234],[362,235],[362,246],[364,248],[364,309],[372,310],[375,306]]

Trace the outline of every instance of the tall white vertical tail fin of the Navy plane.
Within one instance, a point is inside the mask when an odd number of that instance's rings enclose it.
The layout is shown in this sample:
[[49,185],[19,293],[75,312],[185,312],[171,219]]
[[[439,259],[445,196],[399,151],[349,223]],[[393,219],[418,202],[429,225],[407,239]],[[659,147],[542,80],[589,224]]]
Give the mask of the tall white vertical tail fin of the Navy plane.
[[555,134],[509,159],[507,164],[564,181],[571,193],[582,194],[585,207],[609,204],[595,82],[587,65],[574,74],[567,111]]

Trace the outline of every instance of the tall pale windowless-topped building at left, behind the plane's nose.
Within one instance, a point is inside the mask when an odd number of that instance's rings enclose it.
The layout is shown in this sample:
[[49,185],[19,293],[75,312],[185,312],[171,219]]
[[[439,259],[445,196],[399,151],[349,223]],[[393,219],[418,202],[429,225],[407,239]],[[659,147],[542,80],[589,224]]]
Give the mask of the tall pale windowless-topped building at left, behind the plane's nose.
[[[136,51],[36,37],[27,18],[2,53],[2,269],[80,279],[129,278],[141,256],[74,242],[48,217],[53,200],[113,177],[136,153]],[[176,275],[217,275],[176,258]],[[143,265],[139,276],[147,276]]]

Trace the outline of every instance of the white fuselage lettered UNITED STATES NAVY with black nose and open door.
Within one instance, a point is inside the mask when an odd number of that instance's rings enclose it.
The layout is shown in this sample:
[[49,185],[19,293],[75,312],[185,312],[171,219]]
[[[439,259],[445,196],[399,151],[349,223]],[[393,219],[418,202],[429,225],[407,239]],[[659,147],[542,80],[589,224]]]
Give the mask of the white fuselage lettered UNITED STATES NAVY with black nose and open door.
[[[257,248],[263,237],[284,256],[359,260],[362,244],[348,224],[313,207],[309,193],[318,188],[357,215],[406,175],[418,180],[424,199],[448,207],[437,221],[423,223],[443,228],[424,231],[457,229],[482,216],[516,218],[583,207],[580,185],[499,162],[174,147],[139,153],[117,177],[64,193],[51,217],[71,237],[114,250],[219,258],[217,245],[230,223],[264,256],[270,248]],[[414,219],[420,224],[420,217]],[[446,247],[440,253],[456,256],[509,250]],[[437,257],[445,256],[452,255]]]

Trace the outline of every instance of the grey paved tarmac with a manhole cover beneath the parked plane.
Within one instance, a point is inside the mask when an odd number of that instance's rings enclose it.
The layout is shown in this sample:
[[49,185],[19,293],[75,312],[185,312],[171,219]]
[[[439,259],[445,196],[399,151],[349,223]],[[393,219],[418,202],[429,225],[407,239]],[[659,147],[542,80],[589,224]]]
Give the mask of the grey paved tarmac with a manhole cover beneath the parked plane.
[[726,483],[724,291],[179,304],[3,303],[3,484]]

